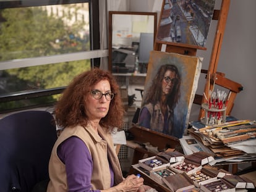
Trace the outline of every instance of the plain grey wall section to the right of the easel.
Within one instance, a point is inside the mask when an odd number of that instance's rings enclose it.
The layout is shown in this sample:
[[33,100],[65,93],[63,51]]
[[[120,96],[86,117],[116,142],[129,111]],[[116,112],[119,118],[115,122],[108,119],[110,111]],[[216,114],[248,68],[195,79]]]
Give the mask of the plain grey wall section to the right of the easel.
[[223,38],[218,70],[241,83],[232,115],[239,119],[256,119],[256,1],[232,0]]

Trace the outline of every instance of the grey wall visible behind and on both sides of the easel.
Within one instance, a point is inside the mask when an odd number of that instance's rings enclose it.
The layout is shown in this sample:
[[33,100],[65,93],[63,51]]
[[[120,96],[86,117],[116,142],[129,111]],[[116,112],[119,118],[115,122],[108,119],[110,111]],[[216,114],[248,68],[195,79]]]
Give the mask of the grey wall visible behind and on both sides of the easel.
[[[160,0],[130,0],[129,11],[159,12]],[[216,9],[220,9],[220,0],[216,0]],[[233,111],[238,119],[256,119],[256,1],[231,0],[228,20],[221,47],[218,72],[225,73],[230,80],[240,83],[244,90],[237,94]],[[197,56],[203,57],[203,69],[208,69],[211,47],[215,36],[217,21],[213,20],[207,40],[207,51],[198,50]],[[203,93],[204,77],[198,83],[198,94]],[[199,106],[193,105],[190,120],[197,120]]]

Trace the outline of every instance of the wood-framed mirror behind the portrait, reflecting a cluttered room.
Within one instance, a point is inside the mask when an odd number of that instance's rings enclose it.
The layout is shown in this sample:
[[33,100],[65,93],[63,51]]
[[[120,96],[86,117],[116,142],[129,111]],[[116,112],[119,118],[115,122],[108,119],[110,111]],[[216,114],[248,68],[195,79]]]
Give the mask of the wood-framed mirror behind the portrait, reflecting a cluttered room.
[[109,11],[108,69],[134,73],[136,58],[147,63],[156,36],[156,12]]

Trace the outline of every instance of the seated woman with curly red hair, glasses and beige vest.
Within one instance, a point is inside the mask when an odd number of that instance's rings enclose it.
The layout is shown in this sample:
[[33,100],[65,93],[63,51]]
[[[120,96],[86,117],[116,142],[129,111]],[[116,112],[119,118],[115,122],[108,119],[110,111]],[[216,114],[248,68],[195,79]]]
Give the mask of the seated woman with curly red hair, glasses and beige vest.
[[121,127],[124,109],[111,73],[93,69],[78,75],[56,104],[63,128],[49,160],[48,192],[145,191],[143,178],[122,177],[111,131]]

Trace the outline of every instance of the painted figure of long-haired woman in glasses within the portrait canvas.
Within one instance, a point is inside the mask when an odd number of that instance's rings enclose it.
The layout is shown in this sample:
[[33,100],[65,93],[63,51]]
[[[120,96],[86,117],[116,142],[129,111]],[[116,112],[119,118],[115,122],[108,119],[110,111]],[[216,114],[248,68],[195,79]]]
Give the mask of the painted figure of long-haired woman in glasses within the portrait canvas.
[[153,78],[150,91],[143,98],[139,125],[167,135],[173,133],[173,110],[179,99],[181,79],[175,65],[165,64]]

